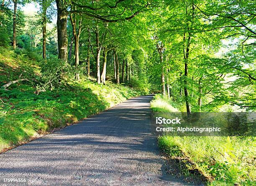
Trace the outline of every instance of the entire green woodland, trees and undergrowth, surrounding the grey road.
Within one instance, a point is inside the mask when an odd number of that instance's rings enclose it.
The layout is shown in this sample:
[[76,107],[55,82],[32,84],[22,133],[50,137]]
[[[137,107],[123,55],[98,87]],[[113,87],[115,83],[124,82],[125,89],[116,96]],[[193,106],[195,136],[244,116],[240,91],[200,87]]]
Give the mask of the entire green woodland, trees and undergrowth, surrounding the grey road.
[[[254,0],[2,0],[0,150],[150,93],[158,112],[255,112],[255,47]],[[253,185],[255,139],[232,140],[243,173],[204,170]]]

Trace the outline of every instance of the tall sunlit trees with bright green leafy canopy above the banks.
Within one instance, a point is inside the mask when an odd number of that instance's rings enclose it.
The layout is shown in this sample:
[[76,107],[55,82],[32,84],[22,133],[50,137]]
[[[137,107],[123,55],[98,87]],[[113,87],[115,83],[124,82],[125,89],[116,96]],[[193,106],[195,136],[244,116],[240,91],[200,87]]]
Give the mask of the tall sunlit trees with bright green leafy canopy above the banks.
[[255,16],[253,0],[3,0],[0,45],[58,55],[61,81],[73,71],[161,92],[188,114],[255,110]]

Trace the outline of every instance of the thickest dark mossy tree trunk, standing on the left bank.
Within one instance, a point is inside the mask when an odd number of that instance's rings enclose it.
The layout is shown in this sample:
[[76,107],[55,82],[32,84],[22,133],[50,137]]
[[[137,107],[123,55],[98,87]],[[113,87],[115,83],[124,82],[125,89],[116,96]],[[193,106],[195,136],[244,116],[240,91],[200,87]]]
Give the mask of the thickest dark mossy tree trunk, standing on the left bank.
[[67,16],[68,11],[62,0],[56,0],[57,5],[57,33],[58,33],[58,58],[67,62]]

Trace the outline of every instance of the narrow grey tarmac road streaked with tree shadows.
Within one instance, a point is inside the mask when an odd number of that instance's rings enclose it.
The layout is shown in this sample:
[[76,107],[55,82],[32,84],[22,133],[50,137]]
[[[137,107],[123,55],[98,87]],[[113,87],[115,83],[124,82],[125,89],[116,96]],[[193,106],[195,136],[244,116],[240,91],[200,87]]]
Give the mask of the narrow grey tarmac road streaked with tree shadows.
[[188,185],[164,173],[165,161],[151,134],[151,99],[129,99],[0,154],[0,178],[49,186]]

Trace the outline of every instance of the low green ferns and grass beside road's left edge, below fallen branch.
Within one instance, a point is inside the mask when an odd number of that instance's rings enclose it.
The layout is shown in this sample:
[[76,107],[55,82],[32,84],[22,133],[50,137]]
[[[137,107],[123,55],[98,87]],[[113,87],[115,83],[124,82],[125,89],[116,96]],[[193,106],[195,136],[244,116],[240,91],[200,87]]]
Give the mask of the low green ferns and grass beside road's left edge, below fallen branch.
[[102,86],[91,81],[69,82],[66,89],[34,94],[23,85],[0,90],[0,149],[15,145],[54,127],[63,127],[96,114],[125,99],[139,95],[127,87],[108,82]]

